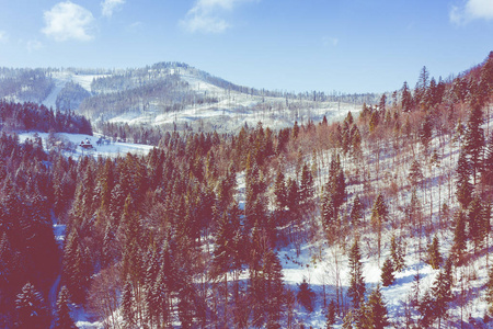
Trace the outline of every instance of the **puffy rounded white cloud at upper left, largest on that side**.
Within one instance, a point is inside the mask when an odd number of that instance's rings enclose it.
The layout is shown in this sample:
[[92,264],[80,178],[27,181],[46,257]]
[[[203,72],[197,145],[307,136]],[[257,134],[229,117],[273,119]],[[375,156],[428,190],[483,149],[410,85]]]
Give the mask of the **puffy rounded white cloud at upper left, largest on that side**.
[[90,41],[90,31],[94,23],[92,13],[70,1],[59,2],[44,12],[46,26],[42,30],[57,42],[68,39]]

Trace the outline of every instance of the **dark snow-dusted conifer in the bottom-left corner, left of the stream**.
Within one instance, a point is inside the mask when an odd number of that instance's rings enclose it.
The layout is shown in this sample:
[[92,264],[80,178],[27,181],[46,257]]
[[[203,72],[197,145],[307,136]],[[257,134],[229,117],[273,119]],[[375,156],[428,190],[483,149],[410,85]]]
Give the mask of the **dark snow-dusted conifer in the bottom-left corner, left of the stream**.
[[49,314],[41,293],[26,283],[15,299],[18,313],[16,328],[44,329],[49,327]]

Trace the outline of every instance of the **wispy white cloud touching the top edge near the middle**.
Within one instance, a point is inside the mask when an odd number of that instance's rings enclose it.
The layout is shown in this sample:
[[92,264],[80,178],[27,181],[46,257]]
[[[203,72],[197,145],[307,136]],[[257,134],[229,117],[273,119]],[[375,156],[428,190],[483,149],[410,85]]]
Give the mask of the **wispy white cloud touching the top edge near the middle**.
[[197,0],[180,24],[190,33],[222,33],[231,26],[221,15],[255,0]]

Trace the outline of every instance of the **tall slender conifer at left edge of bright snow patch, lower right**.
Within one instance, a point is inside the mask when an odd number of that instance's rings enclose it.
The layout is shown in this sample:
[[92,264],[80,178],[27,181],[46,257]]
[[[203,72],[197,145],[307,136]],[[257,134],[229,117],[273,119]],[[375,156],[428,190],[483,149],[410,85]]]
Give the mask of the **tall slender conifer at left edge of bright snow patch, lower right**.
[[362,254],[359,252],[359,239],[356,238],[349,250],[349,287],[347,295],[353,302],[353,307],[358,309],[365,298],[365,279],[363,277]]

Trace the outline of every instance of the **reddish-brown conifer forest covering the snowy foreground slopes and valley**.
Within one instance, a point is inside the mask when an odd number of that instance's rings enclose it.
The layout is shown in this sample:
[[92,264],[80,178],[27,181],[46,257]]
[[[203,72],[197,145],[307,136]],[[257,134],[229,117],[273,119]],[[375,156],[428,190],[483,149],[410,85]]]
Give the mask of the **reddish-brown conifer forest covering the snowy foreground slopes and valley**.
[[[492,101],[493,53],[282,129],[96,128],[1,101],[0,327],[83,309],[101,328],[488,328]],[[93,129],[156,147],[72,158],[16,135]]]

